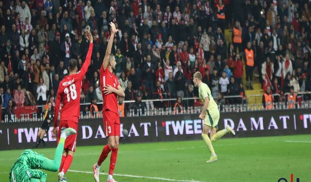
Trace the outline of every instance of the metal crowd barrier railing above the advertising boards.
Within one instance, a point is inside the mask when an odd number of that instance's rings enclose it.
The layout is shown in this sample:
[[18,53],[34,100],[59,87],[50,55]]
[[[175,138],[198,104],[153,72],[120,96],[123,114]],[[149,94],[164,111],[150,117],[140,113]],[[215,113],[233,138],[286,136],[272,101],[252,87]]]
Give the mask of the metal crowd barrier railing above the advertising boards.
[[[284,94],[284,98],[288,96],[289,93]],[[308,92],[302,92],[297,93],[298,97],[311,94]],[[279,94],[272,94],[272,96],[279,96]],[[241,95],[234,95],[234,96],[224,96],[225,99],[239,99],[241,100],[240,103],[235,104],[223,104],[218,105],[218,108],[220,112],[224,113],[232,113],[232,112],[246,112],[246,111],[262,111],[265,110],[262,107],[262,103],[249,103],[250,98],[257,98],[261,97],[262,95],[249,95],[246,99],[246,103],[243,102],[243,97]],[[311,108],[311,100],[304,100],[302,99],[301,102],[294,103],[294,108],[288,108],[288,104],[285,101],[284,98],[281,99],[281,101],[275,101],[273,102],[273,108],[271,110],[283,110],[283,109],[298,109],[298,108]],[[199,98],[193,97],[193,98],[183,98],[184,101],[188,100],[198,100]],[[217,100],[217,98],[214,98]],[[256,100],[256,99],[255,99]],[[156,101],[176,101],[176,99],[143,99],[142,102],[156,102]],[[257,101],[257,100],[256,100]],[[124,100],[123,103],[134,103],[135,100]],[[187,102],[188,103],[188,102]],[[98,102],[97,104],[103,104],[103,102]],[[81,106],[88,106],[90,103],[81,103]],[[45,108],[45,105],[37,105],[37,108],[40,111],[43,111]],[[181,111],[174,111],[171,105],[168,105],[165,108],[155,108],[155,109],[146,109],[145,111],[142,111],[141,109],[138,109],[135,111],[134,109],[130,109],[126,116],[161,116],[161,115],[181,115],[181,114],[200,114],[202,112],[202,103],[196,104],[196,106],[189,106],[188,104],[185,107],[182,107]],[[60,115],[59,115],[60,117]],[[92,115],[89,111],[87,112],[80,112],[80,118],[102,118],[102,112],[97,112],[94,115]],[[58,118],[59,119],[59,118]],[[27,121],[42,121],[43,120],[43,114],[21,114],[20,117],[17,118],[16,115],[11,115],[9,118],[8,115],[4,115],[2,118],[2,122],[27,122]]]

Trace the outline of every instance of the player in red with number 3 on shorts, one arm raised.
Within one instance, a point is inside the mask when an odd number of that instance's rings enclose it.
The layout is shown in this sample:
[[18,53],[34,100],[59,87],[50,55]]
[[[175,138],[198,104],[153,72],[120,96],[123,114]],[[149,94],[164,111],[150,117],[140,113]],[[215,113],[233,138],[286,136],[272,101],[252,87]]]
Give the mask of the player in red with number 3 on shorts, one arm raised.
[[93,165],[94,179],[99,182],[99,171],[102,163],[111,152],[110,168],[107,182],[116,182],[113,178],[113,170],[117,162],[119,139],[120,139],[120,116],[118,111],[117,96],[124,98],[125,94],[118,82],[118,78],[113,74],[113,70],[116,68],[116,59],[111,54],[111,48],[113,39],[118,30],[114,23],[110,23],[111,35],[108,41],[103,66],[100,70],[100,81],[103,94],[103,120],[104,120],[104,132],[108,140],[108,144],[104,146],[101,156],[98,162]]

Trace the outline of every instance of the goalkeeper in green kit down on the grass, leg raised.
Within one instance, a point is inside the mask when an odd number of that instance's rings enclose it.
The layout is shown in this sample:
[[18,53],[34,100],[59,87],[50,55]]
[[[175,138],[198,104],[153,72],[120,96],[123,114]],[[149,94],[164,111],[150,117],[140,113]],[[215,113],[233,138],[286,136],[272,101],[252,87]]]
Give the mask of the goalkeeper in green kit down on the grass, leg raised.
[[77,133],[72,128],[61,131],[60,140],[54,154],[54,160],[48,159],[31,149],[24,150],[9,173],[10,182],[46,182],[47,174],[38,169],[57,171],[59,169],[66,138]]

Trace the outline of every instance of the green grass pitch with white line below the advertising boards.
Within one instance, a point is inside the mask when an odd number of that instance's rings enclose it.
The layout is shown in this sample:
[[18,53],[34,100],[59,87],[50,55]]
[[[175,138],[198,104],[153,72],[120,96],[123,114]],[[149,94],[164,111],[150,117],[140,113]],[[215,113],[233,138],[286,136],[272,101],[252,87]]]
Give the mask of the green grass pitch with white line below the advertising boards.
[[[105,141],[103,141],[105,142]],[[221,139],[213,143],[218,161],[207,164],[210,154],[201,140],[120,145],[115,180],[119,182],[277,182],[294,174],[311,181],[311,135]],[[92,166],[102,146],[78,147],[69,182],[93,182]],[[0,182],[22,150],[0,151]],[[35,149],[52,158],[54,149]],[[109,156],[101,167],[105,182]],[[47,172],[47,182],[57,173]]]

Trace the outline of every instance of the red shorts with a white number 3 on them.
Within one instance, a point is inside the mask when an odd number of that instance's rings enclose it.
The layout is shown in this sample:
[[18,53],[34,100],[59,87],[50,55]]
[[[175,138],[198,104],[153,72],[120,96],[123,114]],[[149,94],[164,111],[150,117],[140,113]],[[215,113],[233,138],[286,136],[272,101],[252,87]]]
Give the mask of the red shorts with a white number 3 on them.
[[104,132],[108,136],[120,136],[120,116],[109,110],[103,111]]

